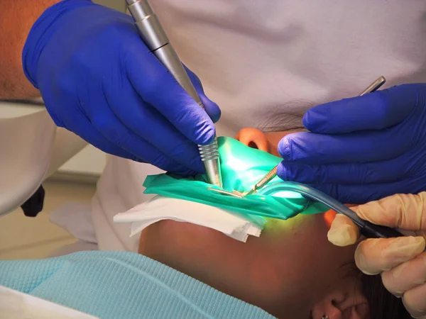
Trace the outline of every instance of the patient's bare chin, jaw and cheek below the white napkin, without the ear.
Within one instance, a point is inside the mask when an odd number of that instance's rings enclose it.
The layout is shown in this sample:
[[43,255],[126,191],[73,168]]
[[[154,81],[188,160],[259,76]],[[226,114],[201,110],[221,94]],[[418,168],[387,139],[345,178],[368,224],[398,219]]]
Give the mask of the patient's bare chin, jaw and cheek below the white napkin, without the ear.
[[161,220],[143,230],[139,252],[278,318],[301,318],[300,305],[312,303],[312,287],[328,283],[336,263],[351,259],[353,251],[328,243],[320,215],[300,216],[293,224],[276,221],[244,243],[204,226]]

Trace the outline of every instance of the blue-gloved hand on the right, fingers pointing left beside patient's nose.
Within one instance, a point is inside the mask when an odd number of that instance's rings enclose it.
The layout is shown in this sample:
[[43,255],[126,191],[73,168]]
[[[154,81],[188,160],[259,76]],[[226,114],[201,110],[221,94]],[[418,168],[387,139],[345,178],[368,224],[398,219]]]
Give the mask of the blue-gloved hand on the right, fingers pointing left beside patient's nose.
[[287,135],[278,176],[343,203],[426,190],[426,84],[403,84],[316,106],[312,133]]

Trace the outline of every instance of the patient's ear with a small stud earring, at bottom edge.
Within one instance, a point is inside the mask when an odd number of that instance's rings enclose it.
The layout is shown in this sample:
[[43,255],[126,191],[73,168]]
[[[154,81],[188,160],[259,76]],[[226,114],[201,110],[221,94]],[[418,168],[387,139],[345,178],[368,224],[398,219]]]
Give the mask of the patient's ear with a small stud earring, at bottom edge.
[[[368,319],[368,301],[359,289],[334,291],[312,308],[312,318]],[[327,318],[326,317],[326,318]]]

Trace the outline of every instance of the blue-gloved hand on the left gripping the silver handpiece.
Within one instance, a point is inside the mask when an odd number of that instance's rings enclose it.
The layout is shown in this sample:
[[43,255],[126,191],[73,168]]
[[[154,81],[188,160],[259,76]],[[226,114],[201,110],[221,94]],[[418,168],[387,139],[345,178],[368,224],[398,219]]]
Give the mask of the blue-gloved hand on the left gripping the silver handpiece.
[[212,121],[143,44],[131,16],[61,1],[31,29],[23,67],[58,126],[113,155],[204,172],[197,144],[214,138],[219,108],[189,72]]

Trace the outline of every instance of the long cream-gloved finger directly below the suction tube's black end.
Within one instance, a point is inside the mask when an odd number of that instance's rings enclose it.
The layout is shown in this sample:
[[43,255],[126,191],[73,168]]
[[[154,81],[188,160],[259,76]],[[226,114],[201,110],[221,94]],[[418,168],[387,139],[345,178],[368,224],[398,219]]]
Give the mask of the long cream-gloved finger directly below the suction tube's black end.
[[355,263],[364,274],[379,274],[413,259],[424,250],[423,237],[370,238],[356,248]]

